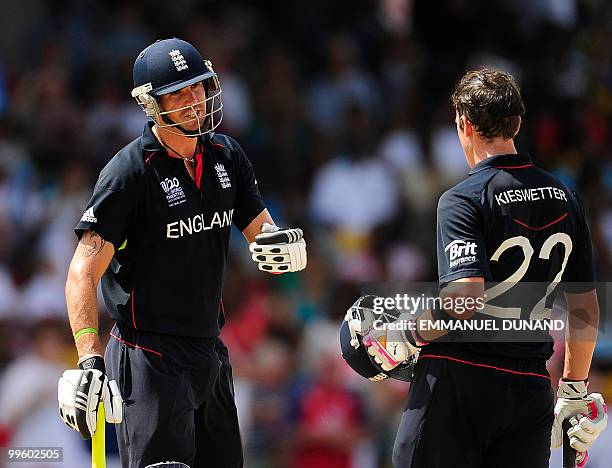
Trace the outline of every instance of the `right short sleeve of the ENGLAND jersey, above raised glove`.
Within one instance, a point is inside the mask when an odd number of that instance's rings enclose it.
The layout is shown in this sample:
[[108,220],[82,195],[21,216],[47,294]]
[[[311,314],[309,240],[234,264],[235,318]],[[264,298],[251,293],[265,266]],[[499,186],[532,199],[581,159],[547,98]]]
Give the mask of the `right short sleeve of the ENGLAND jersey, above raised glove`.
[[247,159],[240,145],[235,140],[232,140],[232,143],[237,156],[236,166],[238,169],[238,191],[233,219],[236,227],[242,231],[266,206],[259,193],[255,171],[253,171],[251,162]]

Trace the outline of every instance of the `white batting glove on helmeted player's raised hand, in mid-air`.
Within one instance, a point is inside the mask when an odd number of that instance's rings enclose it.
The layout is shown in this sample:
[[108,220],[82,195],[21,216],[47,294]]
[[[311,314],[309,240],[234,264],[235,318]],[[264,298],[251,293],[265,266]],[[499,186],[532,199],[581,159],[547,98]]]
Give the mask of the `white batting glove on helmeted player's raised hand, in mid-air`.
[[301,229],[281,229],[264,223],[249,245],[260,270],[281,274],[306,268],[306,241]]

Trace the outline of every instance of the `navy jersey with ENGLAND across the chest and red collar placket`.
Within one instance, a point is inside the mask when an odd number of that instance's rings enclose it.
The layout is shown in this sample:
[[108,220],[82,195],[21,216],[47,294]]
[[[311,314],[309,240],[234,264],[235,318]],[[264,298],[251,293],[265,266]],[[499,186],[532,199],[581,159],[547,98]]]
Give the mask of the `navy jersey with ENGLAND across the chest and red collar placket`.
[[76,233],[115,247],[101,282],[111,318],[215,337],[231,225],[243,230],[264,209],[255,174],[235,140],[212,134],[198,143],[194,181],[151,126],[102,170]]

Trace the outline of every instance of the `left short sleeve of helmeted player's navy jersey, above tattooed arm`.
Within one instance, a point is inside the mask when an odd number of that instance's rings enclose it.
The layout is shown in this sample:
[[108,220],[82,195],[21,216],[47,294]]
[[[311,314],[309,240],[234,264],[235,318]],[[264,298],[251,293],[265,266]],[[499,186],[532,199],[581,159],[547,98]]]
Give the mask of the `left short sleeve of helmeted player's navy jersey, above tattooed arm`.
[[75,233],[80,239],[85,231],[95,231],[118,249],[127,239],[138,197],[135,181],[119,184],[121,175],[109,172],[112,171],[107,166],[100,174]]

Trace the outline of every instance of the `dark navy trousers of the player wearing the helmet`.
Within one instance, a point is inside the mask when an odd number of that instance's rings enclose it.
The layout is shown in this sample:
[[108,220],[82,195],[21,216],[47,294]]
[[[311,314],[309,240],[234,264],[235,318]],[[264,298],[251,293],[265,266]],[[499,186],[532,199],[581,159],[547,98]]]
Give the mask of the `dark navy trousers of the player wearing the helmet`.
[[168,460],[191,468],[243,466],[232,369],[220,339],[115,324],[105,362],[125,401],[117,426],[123,468]]

